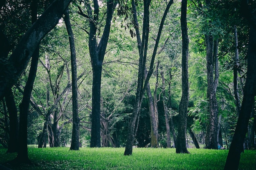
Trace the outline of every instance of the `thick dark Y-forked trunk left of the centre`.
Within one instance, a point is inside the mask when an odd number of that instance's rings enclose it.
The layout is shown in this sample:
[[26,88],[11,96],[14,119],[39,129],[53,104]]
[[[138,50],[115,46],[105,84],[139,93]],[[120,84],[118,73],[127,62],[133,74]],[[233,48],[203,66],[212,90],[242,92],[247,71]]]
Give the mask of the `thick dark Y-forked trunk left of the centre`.
[[102,63],[106,53],[108,44],[108,37],[110,33],[110,25],[115,10],[116,3],[113,0],[107,2],[107,16],[106,24],[104,27],[103,35],[99,44],[96,40],[97,22],[99,19],[99,4],[98,1],[94,1],[94,15],[92,15],[92,8],[88,0],[87,12],[90,18],[90,33],[89,33],[89,50],[92,63],[92,130],[91,130],[91,142],[90,147],[101,147],[101,72]]

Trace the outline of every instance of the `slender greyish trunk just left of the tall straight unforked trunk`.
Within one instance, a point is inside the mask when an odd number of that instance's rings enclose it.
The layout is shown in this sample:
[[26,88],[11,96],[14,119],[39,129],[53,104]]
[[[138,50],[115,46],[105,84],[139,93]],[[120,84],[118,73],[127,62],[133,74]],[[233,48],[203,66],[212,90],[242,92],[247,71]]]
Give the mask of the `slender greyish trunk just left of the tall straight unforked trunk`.
[[[164,79],[164,72],[161,71],[161,77],[162,77],[162,95],[163,95],[163,105],[164,105],[164,117],[165,117],[165,126],[166,126],[166,137],[167,137],[167,148],[171,148],[171,130],[169,125],[169,117],[168,117],[168,108],[166,106],[165,101],[165,79]],[[174,143],[176,140],[174,140]],[[174,144],[175,145],[175,144]]]

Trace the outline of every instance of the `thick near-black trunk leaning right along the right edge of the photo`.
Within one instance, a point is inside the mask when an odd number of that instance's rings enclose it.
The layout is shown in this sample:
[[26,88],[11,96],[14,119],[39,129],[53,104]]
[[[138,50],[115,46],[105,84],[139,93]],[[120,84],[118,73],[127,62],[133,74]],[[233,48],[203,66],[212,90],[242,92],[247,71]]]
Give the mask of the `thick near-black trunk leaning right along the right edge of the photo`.
[[247,77],[244,88],[244,97],[238,117],[236,130],[232,139],[225,170],[237,170],[240,161],[241,145],[245,139],[247,126],[251,117],[254,104],[255,86],[256,86],[256,29],[250,26],[249,46],[247,52]]

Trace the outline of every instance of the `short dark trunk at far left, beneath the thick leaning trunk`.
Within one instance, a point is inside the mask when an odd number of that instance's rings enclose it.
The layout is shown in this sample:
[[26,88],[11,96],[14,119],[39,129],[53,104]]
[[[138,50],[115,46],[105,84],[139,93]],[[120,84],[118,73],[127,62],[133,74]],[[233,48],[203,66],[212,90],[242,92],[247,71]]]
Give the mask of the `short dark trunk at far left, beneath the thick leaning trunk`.
[[5,95],[5,102],[9,112],[9,143],[8,143],[8,153],[13,153],[18,151],[18,130],[19,130],[19,122],[18,122],[18,111],[16,108],[15,101],[13,99],[13,94],[11,89]]

